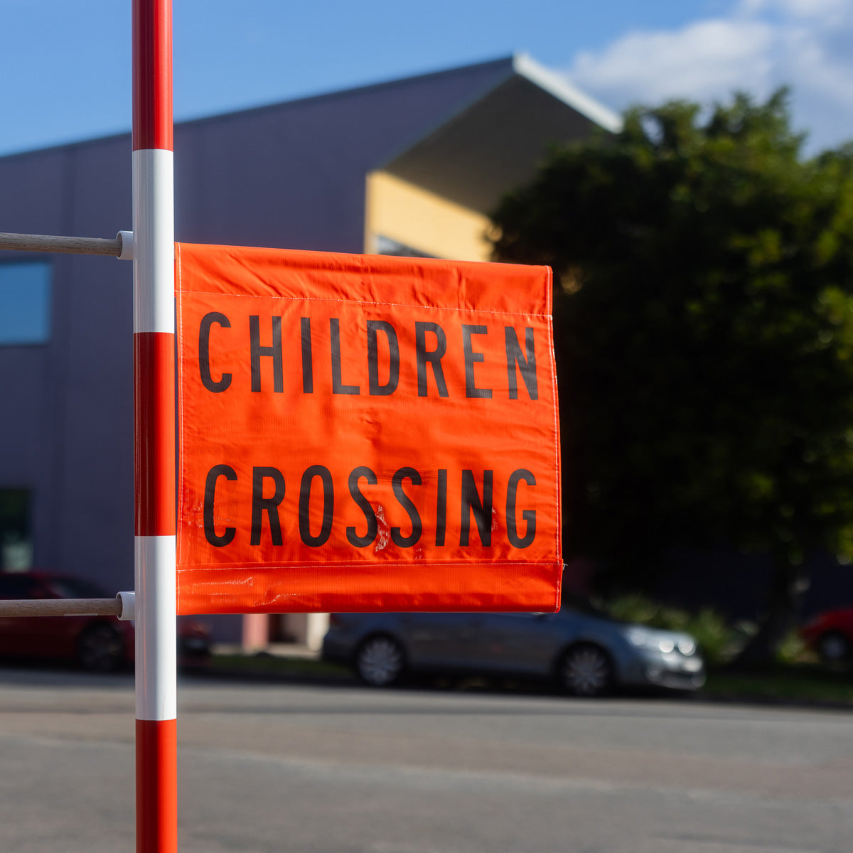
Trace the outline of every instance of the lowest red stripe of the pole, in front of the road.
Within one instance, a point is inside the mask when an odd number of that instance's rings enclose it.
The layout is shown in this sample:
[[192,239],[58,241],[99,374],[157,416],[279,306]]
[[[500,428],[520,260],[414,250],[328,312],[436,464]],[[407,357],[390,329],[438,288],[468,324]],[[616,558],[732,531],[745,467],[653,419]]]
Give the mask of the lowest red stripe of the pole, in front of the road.
[[136,720],[136,853],[177,851],[177,720]]

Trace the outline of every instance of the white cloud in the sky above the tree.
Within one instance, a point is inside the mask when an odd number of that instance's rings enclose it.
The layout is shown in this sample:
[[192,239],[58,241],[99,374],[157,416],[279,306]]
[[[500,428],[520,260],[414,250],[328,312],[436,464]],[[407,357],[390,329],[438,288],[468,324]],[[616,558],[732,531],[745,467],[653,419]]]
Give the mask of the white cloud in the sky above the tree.
[[728,15],[629,32],[577,55],[568,77],[615,107],[670,98],[711,102],[793,89],[809,148],[853,138],[853,0],[740,0]]

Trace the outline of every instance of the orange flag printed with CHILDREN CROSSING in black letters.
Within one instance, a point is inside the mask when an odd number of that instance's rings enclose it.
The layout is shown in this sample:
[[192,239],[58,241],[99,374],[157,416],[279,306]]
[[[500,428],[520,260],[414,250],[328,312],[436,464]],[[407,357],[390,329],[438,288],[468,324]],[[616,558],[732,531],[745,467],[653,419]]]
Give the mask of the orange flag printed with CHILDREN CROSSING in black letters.
[[178,612],[552,611],[547,267],[176,246]]

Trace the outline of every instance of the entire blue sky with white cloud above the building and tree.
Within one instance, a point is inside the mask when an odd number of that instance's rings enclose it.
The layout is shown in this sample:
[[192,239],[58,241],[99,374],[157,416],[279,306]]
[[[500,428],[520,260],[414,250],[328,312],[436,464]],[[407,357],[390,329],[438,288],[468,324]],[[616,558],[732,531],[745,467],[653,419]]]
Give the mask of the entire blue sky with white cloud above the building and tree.
[[[607,106],[793,87],[853,138],[853,0],[174,0],[175,117],[517,51]],[[0,154],[129,130],[131,0],[0,0]]]

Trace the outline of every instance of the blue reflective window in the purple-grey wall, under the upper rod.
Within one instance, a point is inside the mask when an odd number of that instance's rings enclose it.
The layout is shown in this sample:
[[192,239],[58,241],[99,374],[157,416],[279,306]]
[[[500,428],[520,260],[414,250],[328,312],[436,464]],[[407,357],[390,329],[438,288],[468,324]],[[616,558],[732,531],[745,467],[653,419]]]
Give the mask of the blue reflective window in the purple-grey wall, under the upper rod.
[[51,271],[47,261],[0,263],[0,345],[47,343]]

